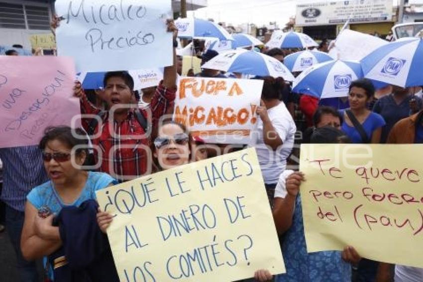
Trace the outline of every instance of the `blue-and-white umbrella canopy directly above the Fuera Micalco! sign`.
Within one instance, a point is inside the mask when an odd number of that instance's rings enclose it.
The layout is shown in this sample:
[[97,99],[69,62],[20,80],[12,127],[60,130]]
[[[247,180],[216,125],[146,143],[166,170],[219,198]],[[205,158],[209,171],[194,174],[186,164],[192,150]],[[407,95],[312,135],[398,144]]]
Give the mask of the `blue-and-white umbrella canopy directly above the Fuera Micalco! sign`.
[[294,76],[280,61],[254,50],[226,51],[212,58],[202,67],[232,73],[282,77],[287,81],[294,80]]

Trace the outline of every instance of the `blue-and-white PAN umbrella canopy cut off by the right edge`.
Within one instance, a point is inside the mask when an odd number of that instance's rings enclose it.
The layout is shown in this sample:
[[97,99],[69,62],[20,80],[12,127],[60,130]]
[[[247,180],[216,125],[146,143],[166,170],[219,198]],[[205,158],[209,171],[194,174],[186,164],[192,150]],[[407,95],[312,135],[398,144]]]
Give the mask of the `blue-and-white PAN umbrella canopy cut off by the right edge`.
[[369,79],[412,87],[423,85],[423,39],[407,38],[389,43],[361,60]]

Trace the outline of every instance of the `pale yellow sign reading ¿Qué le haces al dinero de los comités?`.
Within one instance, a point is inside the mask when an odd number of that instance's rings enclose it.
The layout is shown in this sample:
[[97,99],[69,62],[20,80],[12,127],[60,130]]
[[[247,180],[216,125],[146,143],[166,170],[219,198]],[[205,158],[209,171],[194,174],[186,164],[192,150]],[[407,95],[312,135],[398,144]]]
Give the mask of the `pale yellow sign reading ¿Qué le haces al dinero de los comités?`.
[[[97,191],[120,281],[235,281],[285,272],[253,148]],[[257,228],[259,227],[259,228]]]

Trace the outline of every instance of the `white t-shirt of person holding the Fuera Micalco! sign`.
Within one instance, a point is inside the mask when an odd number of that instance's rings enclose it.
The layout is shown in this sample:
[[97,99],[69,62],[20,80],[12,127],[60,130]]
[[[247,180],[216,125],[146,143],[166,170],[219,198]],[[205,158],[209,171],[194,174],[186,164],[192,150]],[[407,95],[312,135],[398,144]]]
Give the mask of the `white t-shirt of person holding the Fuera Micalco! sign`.
[[259,118],[257,123],[258,138],[255,148],[260,162],[264,183],[275,184],[278,182],[279,175],[286,168],[287,158],[294,146],[297,127],[295,126],[291,114],[282,102],[278,106],[267,110],[267,114],[275,131],[281,138],[283,145],[279,146],[276,151],[272,150],[270,147],[267,148],[263,141],[263,122]]

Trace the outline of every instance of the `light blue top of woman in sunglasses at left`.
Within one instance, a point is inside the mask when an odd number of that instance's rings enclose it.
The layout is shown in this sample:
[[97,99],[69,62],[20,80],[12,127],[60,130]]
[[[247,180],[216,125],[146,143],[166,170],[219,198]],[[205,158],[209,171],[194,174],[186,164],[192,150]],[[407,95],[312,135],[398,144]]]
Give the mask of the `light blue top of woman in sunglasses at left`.
[[80,206],[83,202],[96,199],[96,191],[106,188],[109,184],[117,184],[118,182],[103,172],[88,172],[87,182],[81,191],[79,198],[71,205],[63,203],[59,194],[54,189],[51,180],[41,184],[31,190],[27,200],[36,208],[40,209],[42,206],[47,206],[54,214],[58,214],[65,206]]

